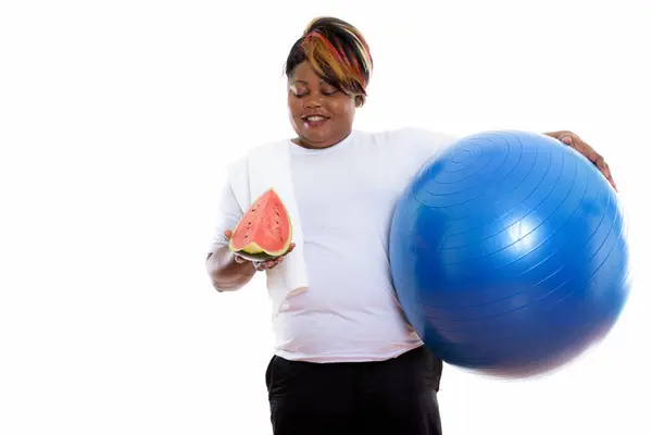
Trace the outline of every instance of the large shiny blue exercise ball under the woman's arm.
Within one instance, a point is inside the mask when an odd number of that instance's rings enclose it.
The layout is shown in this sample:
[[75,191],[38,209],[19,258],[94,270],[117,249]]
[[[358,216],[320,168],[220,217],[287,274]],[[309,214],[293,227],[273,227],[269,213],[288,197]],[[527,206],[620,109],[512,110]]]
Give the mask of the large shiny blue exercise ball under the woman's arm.
[[389,250],[426,346],[481,374],[561,368],[610,332],[629,294],[613,188],[536,133],[480,133],[432,157],[397,203]]

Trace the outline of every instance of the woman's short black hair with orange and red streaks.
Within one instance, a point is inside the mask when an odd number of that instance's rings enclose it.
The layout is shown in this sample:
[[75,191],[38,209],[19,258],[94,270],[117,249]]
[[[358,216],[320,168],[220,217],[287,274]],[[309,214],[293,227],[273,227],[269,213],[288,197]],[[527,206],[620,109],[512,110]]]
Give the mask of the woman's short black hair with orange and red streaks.
[[374,61],[366,40],[351,24],[330,16],[311,21],[290,49],[285,64],[286,76],[290,77],[297,65],[304,61],[324,82],[359,98],[360,105],[364,104]]

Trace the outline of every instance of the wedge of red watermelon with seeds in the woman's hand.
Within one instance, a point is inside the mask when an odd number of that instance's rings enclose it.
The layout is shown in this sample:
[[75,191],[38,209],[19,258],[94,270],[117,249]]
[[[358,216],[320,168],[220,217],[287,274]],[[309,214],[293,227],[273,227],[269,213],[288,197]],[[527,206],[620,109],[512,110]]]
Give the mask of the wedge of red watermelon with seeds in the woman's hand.
[[274,189],[261,195],[234,229],[228,247],[253,261],[265,261],[287,252],[292,238],[289,213]]

